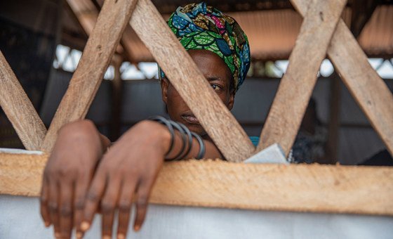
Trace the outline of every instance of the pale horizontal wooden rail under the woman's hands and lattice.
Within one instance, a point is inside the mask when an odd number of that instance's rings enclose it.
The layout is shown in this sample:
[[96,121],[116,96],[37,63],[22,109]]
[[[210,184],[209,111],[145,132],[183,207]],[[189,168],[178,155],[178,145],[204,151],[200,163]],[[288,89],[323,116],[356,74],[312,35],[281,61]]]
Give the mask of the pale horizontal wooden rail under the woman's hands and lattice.
[[[47,155],[0,153],[0,194],[39,195]],[[393,216],[393,168],[319,164],[164,164],[150,202]]]

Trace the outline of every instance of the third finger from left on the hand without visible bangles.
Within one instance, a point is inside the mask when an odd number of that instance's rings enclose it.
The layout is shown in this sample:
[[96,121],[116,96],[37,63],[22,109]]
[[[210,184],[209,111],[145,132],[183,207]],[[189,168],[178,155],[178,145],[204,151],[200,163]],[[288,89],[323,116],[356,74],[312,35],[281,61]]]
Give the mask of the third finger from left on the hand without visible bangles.
[[71,238],[73,191],[72,181],[65,179],[60,183],[59,226],[61,238]]

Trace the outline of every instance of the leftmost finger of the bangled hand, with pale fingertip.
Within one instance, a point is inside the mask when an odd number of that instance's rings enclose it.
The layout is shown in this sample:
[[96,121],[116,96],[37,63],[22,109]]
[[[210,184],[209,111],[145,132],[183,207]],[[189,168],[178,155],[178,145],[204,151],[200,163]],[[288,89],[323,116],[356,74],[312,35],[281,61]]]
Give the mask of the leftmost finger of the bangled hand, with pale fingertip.
[[93,216],[98,209],[98,204],[100,203],[100,199],[107,184],[106,175],[106,172],[104,172],[102,167],[100,167],[93,178],[93,182],[91,183],[91,187],[89,188],[86,197],[84,219],[80,226],[82,232],[86,232],[91,226],[91,221],[93,221]]

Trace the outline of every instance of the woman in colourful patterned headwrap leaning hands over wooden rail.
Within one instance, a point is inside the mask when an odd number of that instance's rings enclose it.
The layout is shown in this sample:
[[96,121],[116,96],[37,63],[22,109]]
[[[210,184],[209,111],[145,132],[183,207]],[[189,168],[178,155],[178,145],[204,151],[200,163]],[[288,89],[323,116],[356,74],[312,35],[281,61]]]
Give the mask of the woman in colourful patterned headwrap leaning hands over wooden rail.
[[[179,7],[168,25],[189,52],[214,91],[232,109],[234,94],[250,64],[248,40],[237,22],[205,3]],[[135,198],[135,231],[145,219],[149,193],[165,158],[196,157],[205,146],[205,158],[224,159],[173,85],[160,74],[162,99],[172,120],[197,137],[184,141],[184,132],[144,120],[129,129],[112,146],[92,122],[82,120],[60,129],[44,171],[41,215],[53,224],[56,238],[69,238],[72,228],[81,238],[100,208],[102,236],[110,238],[114,210],[119,209],[118,238],[125,238]],[[172,134],[173,133],[173,134]],[[110,148],[109,148],[110,146]]]

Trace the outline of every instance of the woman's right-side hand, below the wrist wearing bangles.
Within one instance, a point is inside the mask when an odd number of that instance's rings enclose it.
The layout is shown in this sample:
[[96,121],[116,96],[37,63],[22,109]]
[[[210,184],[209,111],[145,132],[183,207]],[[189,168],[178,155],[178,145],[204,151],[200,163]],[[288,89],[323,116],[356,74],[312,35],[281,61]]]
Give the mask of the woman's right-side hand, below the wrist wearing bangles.
[[87,231],[100,207],[102,238],[111,238],[115,209],[119,209],[117,238],[126,238],[135,199],[134,230],[145,219],[147,201],[171,140],[166,127],[142,121],[129,129],[102,157],[86,198],[82,231]]

